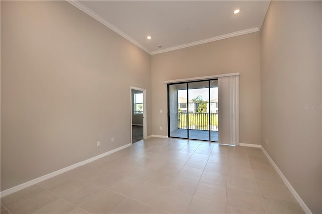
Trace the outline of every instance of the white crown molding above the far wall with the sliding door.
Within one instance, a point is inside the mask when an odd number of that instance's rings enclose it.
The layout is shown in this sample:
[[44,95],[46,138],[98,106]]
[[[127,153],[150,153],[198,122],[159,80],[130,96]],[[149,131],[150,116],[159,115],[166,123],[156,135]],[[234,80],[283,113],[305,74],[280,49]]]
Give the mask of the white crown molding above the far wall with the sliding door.
[[246,29],[246,30],[236,31],[236,32],[233,32],[233,33],[224,34],[224,35],[220,35],[220,36],[216,36],[216,37],[211,37],[211,38],[208,38],[208,39],[203,39],[203,40],[199,40],[199,41],[195,41],[195,42],[190,42],[190,43],[186,43],[186,44],[183,44],[183,45],[177,45],[177,46],[173,46],[173,47],[170,47],[170,48],[165,48],[165,49],[162,49],[162,50],[152,51],[151,55],[155,55],[155,54],[159,54],[159,53],[165,53],[165,52],[168,52],[168,51],[174,51],[174,50],[187,48],[187,47],[191,47],[191,46],[195,46],[195,45],[201,45],[201,44],[204,44],[204,43],[214,42],[214,41],[217,41],[217,40],[227,39],[227,38],[230,38],[230,37],[240,36],[240,35],[249,34],[249,33],[257,32],[257,31],[259,31],[259,29],[257,27],[249,28],[249,29]]

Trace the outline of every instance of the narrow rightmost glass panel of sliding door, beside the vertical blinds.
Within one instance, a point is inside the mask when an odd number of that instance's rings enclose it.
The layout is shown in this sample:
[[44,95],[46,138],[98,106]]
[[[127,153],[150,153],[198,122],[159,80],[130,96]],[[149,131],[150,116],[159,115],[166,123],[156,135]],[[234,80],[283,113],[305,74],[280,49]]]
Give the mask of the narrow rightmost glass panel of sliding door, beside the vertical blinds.
[[218,142],[218,80],[210,80],[210,141]]

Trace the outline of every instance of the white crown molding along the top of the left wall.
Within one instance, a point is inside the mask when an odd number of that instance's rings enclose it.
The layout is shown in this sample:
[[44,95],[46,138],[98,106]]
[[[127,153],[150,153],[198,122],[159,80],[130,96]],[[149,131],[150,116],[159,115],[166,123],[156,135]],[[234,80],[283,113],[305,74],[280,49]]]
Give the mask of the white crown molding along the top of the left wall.
[[138,43],[136,40],[134,40],[132,37],[130,37],[129,35],[124,33],[122,30],[118,29],[117,27],[115,27],[114,25],[112,25],[111,23],[106,21],[104,18],[102,18],[100,15],[98,15],[97,13],[95,13],[94,11],[92,11],[91,9],[89,9],[88,7],[83,5],[82,3],[78,2],[77,0],[66,0],[66,1],[69,2],[70,4],[72,4],[73,6],[75,6],[76,8],[78,8],[79,10],[85,12],[87,15],[91,16],[92,18],[96,19],[97,21],[99,21],[100,23],[102,23],[103,25],[105,25],[106,27],[108,27],[109,29],[114,31],[115,33],[122,36],[123,38],[127,39],[128,41],[130,41],[131,43],[133,43],[137,47],[141,48],[145,52],[151,54],[151,52],[148,49],[146,49],[143,45]]

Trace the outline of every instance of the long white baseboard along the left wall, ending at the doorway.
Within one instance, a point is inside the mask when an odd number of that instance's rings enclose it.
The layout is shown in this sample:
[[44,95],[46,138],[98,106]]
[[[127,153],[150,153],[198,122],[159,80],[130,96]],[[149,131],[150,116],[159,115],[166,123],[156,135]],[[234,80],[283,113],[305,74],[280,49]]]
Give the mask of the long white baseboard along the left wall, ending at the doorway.
[[105,152],[105,153],[103,153],[103,154],[97,155],[97,156],[95,156],[95,157],[89,158],[89,159],[87,159],[87,160],[84,160],[84,161],[81,161],[81,162],[75,163],[75,164],[73,164],[73,165],[70,165],[70,166],[67,166],[67,167],[65,167],[65,168],[62,168],[62,169],[59,169],[59,170],[57,170],[57,171],[51,172],[51,173],[49,173],[49,174],[46,174],[46,175],[44,175],[44,176],[41,176],[41,177],[35,178],[35,179],[33,179],[33,180],[27,181],[26,183],[22,183],[22,184],[20,184],[20,185],[18,185],[18,186],[14,186],[14,187],[11,187],[11,188],[6,189],[6,190],[4,190],[4,191],[1,191],[1,192],[0,192],[0,198],[1,198],[1,197],[4,197],[4,196],[6,196],[6,195],[12,194],[12,193],[14,193],[14,192],[17,192],[17,191],[19,191],[19,190],[22,190],[22,189],[24,189],[24,188],[27,188],[27,187],[29,187],[29,186],[32,186],[32,185],[34,185],[34,184],[37,184],[37,183],[39,183],[39,182],[42,182],[42,181],[44,181],[44,180],[47,180],[47,179],[49,179],[49,178],[52,178],[52,177],[54,177],[54,176],[60,175],[60,174],[62,174],[62,173],[64,173],[64,172],[67,172],[67,171],[72,170],[72,169],[74,169],[74,168],[77,168],[77,167],[79,167],[79,166],[83,166],[84,164],[87,164],[87,163],[90,163],[90,162],[92,162],[92,161],[95,161],[95,160],[97,160],[97,159],[99,159],[99,158],[102,158],[102,157],[104,157],[104,156],[107,156],[107,155],[109,155],[109,154],[112,154],[112,153],[114,153],[114,152],[117,152],[117,151],[119,151],[119,150],[121,150],[121,149],[124,149],[124,148],[126,148],[126,147],[129,147],[129,146],[131,146],[131,145],[132,145],[131,143],[126,144],[126,145],[124,145],[124,146],[118,147],[118,148],[113,149],[113,150],[111,150],[111,151],[108,151],[108,152]]

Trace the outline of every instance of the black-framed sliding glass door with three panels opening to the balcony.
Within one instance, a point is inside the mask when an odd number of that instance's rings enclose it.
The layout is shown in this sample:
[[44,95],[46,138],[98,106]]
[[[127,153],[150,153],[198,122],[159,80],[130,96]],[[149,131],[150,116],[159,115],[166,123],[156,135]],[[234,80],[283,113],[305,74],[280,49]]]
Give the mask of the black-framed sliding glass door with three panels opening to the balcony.
[[168,136],[218,142],[217,80],[168,84]]

